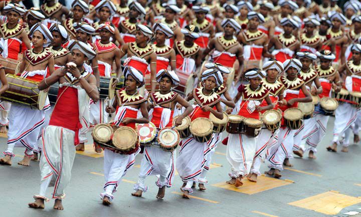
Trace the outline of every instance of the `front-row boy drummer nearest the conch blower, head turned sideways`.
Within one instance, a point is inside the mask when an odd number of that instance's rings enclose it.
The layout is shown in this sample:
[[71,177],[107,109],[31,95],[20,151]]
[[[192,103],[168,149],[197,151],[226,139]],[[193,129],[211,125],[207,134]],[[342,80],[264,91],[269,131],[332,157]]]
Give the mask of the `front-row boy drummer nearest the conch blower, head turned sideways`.
[[[138,92],[138,88],[144,85],[144,77],[141,72],[131,66],[124,68],[125,84],[124,88],[116,90],[116,97],[113,105],[107,106],[108,113],[114,113],[113,124],[118,126],[129,126],[135,129],[135,123],[148,123],[148,110],[146,108],[146,99]],[[140,110],[142,117],[137,117]],[[104,149],[104,192],[100,193],[104,205],[111,204],[118,183],[121,178],[129,171],[135,161],[135,153],[122,154],[118,150],[106,147]],[[169,160],[170,161],[170,160]]]

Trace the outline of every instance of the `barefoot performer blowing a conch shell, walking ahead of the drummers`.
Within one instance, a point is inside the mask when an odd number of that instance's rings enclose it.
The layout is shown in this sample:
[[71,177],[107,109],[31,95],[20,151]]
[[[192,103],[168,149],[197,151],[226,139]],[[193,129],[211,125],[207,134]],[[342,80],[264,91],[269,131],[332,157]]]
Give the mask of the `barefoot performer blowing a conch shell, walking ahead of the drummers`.
[[32,208],[44,208],[44,201],[49,200],[46,190],[53,179],[56,180],[52,193],[54,208],[64,209],[62,199],[71,178],[75,145],[79,143],[79,130],[82,127],[81,118],[88,109],[89,97],[94,101],[99,99],[95,76],[84,67],[84,61],[93,58],[95,52],[81,41],[69,44],[69,49],[72,52],[71,62],[58,68],[39,84],[39,89],[46,89],[59,82],[59,92],[49,125],[43,131],[40,192],[34,195],[35,201],[29,203]]

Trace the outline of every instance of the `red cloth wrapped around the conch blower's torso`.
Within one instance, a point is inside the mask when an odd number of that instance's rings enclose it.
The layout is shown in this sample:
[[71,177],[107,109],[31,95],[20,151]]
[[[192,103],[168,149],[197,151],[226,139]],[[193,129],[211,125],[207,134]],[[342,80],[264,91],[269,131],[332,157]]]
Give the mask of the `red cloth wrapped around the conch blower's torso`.
[[82,127],[79,120],[78,89],[62,86],[59,88],[61,97],[57,98],[49,125],[61,126],[75,131],[74,144],[79,144],[79,129]]

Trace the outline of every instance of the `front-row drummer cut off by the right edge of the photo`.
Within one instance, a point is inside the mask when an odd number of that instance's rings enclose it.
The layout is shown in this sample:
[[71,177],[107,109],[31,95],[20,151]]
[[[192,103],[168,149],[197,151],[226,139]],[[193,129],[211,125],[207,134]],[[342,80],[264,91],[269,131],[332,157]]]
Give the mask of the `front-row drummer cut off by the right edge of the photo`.
[[[345,72],[346,78],[344,81],[344,87],[349,92],[360,92],[361,91],[361,69],[360,59],[361,59],[361,44],[355,43],[351,47],[352,59],[348,60],[344,65],[341,65],[339,68],[340,73]],[[342,71],[341,71],[342,70]],[[338,101],[338,107],[335,111],[335,120],[333,127],[333,140],[332,140],[332,149],[337,149],[337,144],[340,143],[339,137],[342,137],[346,130],[356,121],[357,118],[357,107],[355,106],[358,102],[346,100]],[[344,141],[342,142],[343,152],[348,152],[348,142],[349,136],[344,136]]]

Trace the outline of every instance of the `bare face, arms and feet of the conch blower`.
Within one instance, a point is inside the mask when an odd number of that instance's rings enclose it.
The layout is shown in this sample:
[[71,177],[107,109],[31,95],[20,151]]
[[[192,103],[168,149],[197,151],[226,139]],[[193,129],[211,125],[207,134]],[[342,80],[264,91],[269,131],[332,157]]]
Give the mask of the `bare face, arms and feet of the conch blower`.
[[[76,66],[65,66],[62,68],[58,68],[54,73],[52,73],[49,77],[46,79],[43,79],[39,85],[39,90],[44,90],[49,88],[50,85],[56,83],[59,81],[59,83],[65,83],[67,80],[64,78],[64,75],[66,72],[70,72],[73,76],[77,77],[79,79],[79,82],[75,85],[81,86],[90,98],[92,98],[94,101],[99,100],[99,92],[96,86],[96,79],[94,75],[90,75],[87,79],[84,77],[81,77],[80,71],[83,70],[83,62],[87,60],[87,57],[82,53],[79,49],[73,49],[72,50],[72,62],[76,64]],[[46,80],[46,82],[45,82]],[[44,199],[42,198],[36,198],[34,202],[31,202],[28,204],[29,207],[32,208],[44,208]],[[54,209],[62,210],[64,209],[62,200],[61,199],[55,199],[54,202]]]

